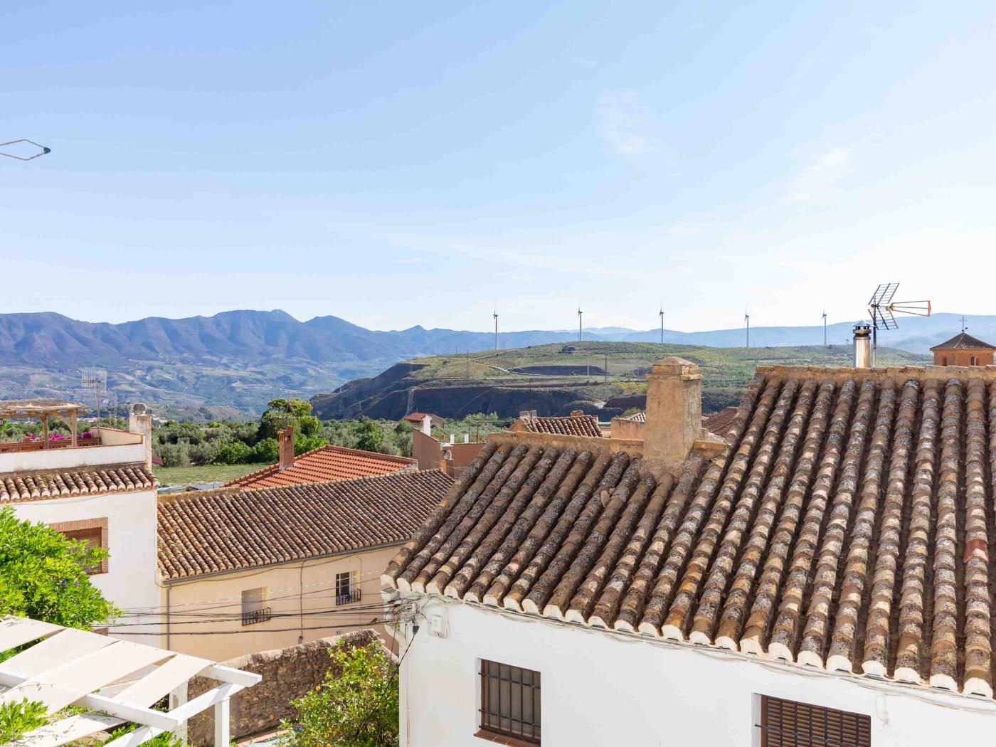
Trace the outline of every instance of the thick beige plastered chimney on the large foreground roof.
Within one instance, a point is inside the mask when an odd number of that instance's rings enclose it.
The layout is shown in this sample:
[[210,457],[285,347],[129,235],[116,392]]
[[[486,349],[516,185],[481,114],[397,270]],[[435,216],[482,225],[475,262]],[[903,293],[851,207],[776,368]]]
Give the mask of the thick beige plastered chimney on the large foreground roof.
[[702,429],[702,374],[680,358],[665,358],[646,377],[643,458],[648,466],[676,468]]

